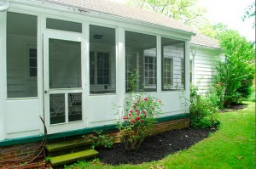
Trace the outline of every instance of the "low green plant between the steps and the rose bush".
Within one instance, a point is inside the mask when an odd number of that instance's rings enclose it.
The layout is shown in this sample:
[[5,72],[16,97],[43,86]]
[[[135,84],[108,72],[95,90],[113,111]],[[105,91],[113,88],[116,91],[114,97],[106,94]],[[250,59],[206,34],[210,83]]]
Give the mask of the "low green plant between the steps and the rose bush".
[[113,136],[109,137],[102,134],[102,131],[95,131],[94,134],[89,134],[83,136],[85,140],[92,142],[91,148],[104,147],[105,149],[110,149],[113,146]]

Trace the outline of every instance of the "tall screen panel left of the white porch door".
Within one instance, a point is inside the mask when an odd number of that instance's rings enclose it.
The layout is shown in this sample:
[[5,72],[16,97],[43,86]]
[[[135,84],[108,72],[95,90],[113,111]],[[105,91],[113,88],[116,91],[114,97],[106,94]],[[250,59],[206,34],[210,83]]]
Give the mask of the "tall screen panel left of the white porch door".
[[7,13],[7,97],[38,96],[37,16]]

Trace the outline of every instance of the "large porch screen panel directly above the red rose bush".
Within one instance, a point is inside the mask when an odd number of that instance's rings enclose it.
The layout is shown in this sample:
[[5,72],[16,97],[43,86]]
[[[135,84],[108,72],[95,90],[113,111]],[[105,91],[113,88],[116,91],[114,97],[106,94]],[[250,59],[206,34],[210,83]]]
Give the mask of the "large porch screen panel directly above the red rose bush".
[[[156,91],[156,37],[125,31],[125,91]],[[131,75],[136,88],[131,88]]]

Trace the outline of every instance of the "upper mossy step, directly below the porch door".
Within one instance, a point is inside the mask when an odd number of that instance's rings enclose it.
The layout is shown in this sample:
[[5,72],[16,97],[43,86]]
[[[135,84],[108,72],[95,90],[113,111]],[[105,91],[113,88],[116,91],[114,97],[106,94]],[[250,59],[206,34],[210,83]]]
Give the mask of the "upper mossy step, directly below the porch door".
[[55,143],[55,144],[47,144],[45,145],[45,148],[49,153],[52,153],[52,152],[56,152],[64,149],[72,149],[72,148],[81,147],[81,146],[88,146],[90,144],[91,142],[85,141],[84,139],[76,139],[76,140]]

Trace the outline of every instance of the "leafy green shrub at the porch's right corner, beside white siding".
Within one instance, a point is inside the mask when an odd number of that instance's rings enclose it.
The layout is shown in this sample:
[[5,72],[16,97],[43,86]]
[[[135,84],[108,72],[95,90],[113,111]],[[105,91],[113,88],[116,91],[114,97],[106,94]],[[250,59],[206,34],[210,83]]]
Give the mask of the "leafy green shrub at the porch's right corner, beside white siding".
[[190,86],[190,126],[191,127],[218,127],[219,121],[214,113],[218,110],[216,104],[218,99],[215,93],[209,97],[203,97],[198,92],[198,87]]

